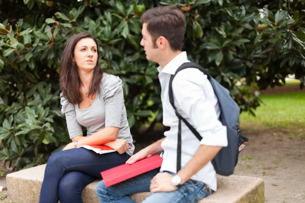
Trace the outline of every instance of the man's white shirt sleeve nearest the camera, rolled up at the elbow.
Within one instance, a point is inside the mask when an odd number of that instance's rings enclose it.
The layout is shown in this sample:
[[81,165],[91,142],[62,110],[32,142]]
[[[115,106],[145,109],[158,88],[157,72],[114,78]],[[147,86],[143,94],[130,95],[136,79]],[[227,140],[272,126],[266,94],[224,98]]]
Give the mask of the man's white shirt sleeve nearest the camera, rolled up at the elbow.
[[201,135],[200,144],[226,147],[227,129],[218,120],[216,98],[207,76],[197,69],[182,70],[175,76],[172,88],[175,106]]

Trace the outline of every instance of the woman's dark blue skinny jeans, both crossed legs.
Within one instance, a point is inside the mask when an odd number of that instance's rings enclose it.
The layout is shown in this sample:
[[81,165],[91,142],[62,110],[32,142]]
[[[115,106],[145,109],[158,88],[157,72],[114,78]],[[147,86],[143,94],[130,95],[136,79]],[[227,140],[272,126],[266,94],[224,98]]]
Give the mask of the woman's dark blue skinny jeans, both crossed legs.
[[97,154],[84,148],[58,151],[46,165],[40,203],[81,203],[82,189],[101,178],[101,172],[124,164],[130,156],[117,152]]

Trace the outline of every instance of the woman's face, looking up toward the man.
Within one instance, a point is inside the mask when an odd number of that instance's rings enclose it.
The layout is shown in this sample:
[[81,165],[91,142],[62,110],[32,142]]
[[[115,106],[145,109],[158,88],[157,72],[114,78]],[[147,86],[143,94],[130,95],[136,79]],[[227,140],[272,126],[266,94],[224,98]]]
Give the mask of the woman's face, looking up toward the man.
[[93,71],[98,61],[98,47],[91,38],[77,42],[74,48],[74,61],[78,70]]

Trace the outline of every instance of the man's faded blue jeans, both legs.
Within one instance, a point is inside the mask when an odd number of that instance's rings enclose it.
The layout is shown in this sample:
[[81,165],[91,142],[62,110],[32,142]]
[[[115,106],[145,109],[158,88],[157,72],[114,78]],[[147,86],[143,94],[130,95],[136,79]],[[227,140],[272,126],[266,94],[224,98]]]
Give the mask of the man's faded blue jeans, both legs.
[[[157,168],[135,178],[115,184],[110,187],[105,187],[104,181],[101,181],[96,193],[101,203],[134,203],[128,195],[137,192],[148,192],[150,181],[160,171]],[[171,172],[166,172],[173,174]],[[151,193],[143,203],[186,203],[198,202],[200,199],[208,196],[210,190],[204,183],[200,181],[188,180],[179,189],[172,192],[156,192]]]

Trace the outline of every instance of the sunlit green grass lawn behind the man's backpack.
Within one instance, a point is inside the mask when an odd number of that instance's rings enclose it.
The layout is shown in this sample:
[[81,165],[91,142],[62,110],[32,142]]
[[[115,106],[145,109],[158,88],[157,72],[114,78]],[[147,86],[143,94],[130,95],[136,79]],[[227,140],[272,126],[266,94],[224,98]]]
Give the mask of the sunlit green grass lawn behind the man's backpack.
[[255,111],[256,117],[243,112],[240,125],[243,129],[305,130],[305,91],[261,95],[264,104]]

